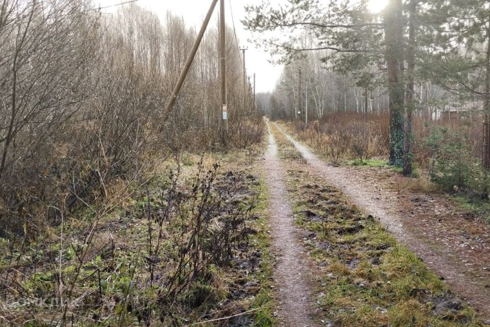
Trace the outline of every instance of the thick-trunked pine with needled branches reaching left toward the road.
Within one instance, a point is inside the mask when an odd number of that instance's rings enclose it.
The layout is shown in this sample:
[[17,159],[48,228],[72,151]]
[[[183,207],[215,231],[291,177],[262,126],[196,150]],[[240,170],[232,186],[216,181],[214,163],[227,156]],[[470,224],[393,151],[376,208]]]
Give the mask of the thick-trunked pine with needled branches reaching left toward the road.
[[[282,62],[291,61],[299,53],[315,50],[360,54],[365,57],[383,54],[387,64],[389,90],[389,162],[391,165],[402,166],[405,136],[402,0],[390,0],[383,19],[367,10],[365,0],[355,6],[348,2],[331,1],[325,7],[315,0],[289,0],[288,3],[287,7],[278,8],[269,6],[268,2],[263,2],[259,6],[247,6],[248,17],[243,20],[243,24],[255,32],[284,32],[301,27],[318,39],[318,46],[314,47],[299,46],[301,42],[297,33],[289,33],[287,40],[279,40],[275,37],[257,39],[257,43],[266,44],[266,48],[273,54],[281,55]],[[384,52],[379,42],[383,29]],[[377,42],[366,42],[370,39]],[[359,85],[365,87],[365,84]]]

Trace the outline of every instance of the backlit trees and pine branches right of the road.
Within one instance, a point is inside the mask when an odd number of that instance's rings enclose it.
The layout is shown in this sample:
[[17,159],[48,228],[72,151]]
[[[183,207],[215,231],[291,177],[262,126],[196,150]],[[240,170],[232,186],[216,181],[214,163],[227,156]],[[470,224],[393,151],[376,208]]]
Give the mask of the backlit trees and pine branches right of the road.
[[[379,14],[365,0],[288,0],[282,7],[263,2],[247,9],[244,24],[288,63],[271,106],[282,115],[295,112],[297,99],[284,99],[281,90],[291,89],[295,65],[306,67],[311,96],[303,97],[328,101],[320,110],[315,103],[316,115],[325,108],[376,112],[381,103],[390,115],[389,162],[405,174],[412,166],[413,115],[432,117],[442,104],[478,115],[482,161],[490,169],[490,1],[389,0]],[[278,38],[277,31],[290,33]],[[327,69],[317,78],[320,63]]]

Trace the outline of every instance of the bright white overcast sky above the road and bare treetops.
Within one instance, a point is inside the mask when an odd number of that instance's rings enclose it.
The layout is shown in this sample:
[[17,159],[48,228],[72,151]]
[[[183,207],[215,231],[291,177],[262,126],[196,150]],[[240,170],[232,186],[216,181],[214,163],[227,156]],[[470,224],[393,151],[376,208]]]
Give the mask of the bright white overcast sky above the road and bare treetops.
[[[285,0],[269,0],[274,3],[285,3]],[[99,2],[101,7],[112,6],[124,2],[124,0],[95,0]],[[277,80],[282,72],[282,66],[273,65],[269,62],[271,55],[264,52],[262,49],[256,49],[254,44],[248,43],[248,39],[253,39],[250,32],[244,30],[240,20],[245,16],[245,5],[260,4],[262,0],[225,0],[227,25],[232,26],[235,22],[236,34],[240,40],[240,47],[248,47],[246,51],[246,65],[248,75],[256,73],[257,76],[257,92],[272,91]],[[231,6],[230,6],[231,3]],[[370,0],[373,11],[380,11],[386,4],[386,0]],[[204,16],[209,9],[211,1],[209,0],[139,0],[136,2],[138,6],[151,10],[157,13],[162,21],[165,13],[170,10],[174,14],[181,15],[189,26],[195,26],[197,30],[201,28]],[[230,8],[231,7],[231,8]],[[214,16],[211,21],[216,21],[219,3],[216,6]],[[115,11],[117,7],[103,9],[103,11]],[[233,15],[233,20],[232,20]],[[212,24],[212,22],[210,22]]]

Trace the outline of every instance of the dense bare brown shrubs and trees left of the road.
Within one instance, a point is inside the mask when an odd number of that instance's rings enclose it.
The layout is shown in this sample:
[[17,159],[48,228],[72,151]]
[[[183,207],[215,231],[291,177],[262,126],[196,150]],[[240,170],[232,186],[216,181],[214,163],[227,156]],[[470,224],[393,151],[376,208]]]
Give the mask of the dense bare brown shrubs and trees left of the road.
[[[209,29],[168,119],[163,108],[196,36],[182,17],[89,0],[0,2],[0,230],[42,230],[129,183],[155,157],[219,149],[218,26]],[[226,30],[228,40],[233,30]],[[227,43],[230,146],[260,142]]]

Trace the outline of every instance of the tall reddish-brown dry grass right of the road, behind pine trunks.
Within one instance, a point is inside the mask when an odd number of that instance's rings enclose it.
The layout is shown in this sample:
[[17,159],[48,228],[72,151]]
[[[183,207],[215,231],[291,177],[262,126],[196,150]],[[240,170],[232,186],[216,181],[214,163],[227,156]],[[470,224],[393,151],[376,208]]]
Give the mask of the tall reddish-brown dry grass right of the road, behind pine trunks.
[[[415,162],[427,168],[431,151],[424,145],[431,129],[444,127],[448,130],[464,129],[468,134],[468,148],[476,158],[481,157],[482,126],[478,119],[444,119],[429,121],[415,116],[412,122],[412,152]],[[328,113],[321,120],[308,125],[296,122],[289,125],[289,132],[330,161],[386,157],[389,153],[389,115],[356,112]]]

